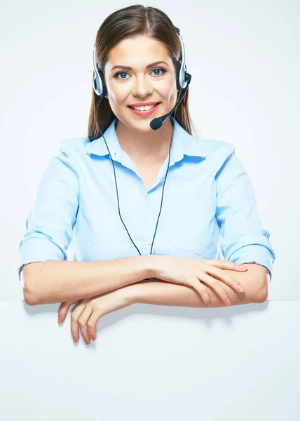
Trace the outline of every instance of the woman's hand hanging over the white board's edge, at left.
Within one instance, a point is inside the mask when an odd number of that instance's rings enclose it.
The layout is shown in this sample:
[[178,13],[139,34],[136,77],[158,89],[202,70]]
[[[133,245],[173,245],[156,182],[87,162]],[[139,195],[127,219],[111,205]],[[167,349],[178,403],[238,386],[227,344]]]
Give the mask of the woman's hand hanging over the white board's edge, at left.
[[[92,298],[75,301],[77,305],[74,306],[71,312],[71,334],[74,342],[79,341],[79,326],[81,335],[87,345],[90,344],[90,338],[96,340],[96,324],[100,317],[132,304],[127,291],[128,288],[123,287]],[[64,321],[69,308],[75,302],[62,302],[58,310],[58,315],[62,319],[61,323]]]

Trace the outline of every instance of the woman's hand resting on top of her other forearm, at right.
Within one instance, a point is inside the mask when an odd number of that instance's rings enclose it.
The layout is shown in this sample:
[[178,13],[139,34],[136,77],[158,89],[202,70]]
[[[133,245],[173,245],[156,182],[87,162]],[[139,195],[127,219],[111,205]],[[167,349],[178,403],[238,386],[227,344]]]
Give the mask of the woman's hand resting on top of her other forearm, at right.
[[[224,301],[225,305],[229,298],[221,282],[226,283],[238,293],[243,293],[240,283],[232,276],[226,274],[222,269],[245,272],[248,268],[242,269],[240,265],[226,260],[207,260],[201,258],[180,258],[169,255],[157,255],[156,277],[162,281],[179,283],[194,288],[207,307],[210,307],[210,294],[205,284],[210,286],[217,295]],[[221,282],[219,282],[221,281]],[[238,286],[242,290],[238,289]]]

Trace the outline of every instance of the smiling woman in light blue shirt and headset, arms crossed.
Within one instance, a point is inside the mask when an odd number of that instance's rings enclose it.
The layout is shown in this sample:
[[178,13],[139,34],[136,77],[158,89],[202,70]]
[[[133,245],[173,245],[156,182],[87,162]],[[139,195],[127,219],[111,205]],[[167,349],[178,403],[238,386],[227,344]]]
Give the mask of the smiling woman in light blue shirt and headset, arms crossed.
[[62,140],[26,220],[25,301],[62,302],[61,321],[78,302],[71,332],[90,343],[100,316],[135,302],[266,300],[270,234],[233,145],[192,134],[179,29],[129,6],[104,20],[94,53],[88,137]]

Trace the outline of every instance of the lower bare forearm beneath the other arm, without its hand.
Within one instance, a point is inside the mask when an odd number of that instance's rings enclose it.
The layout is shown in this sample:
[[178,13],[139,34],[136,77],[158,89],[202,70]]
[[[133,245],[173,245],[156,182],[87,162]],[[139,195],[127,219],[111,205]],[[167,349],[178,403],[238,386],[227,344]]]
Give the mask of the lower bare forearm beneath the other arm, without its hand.
[[[247,265],[247,264],[246,264]],[[251,264],[248,264],[247,272],[234,272],[232,270],[225,272],[229,273],[243,286],[244,293],[238,293],[226,283],[221,282],[222,288],[226,291],[231,305],[243,305],[250,304],[252,302],[261,302],[261,298],[258,290],[258,283],[253,277],[254,270],[250,269]],[[210,302],[212,307],[227,307],[223,300],[214,292],[214,290],[205,284],[205,287],[210,294]],[[205,307],[200,295],[189,286],[184,286],[177,283],[168,283],[163,281],[151,281],[136,283],[128,287],[128,294],[132,303],[144,303],[154,305],[168,305],[177,307]]]

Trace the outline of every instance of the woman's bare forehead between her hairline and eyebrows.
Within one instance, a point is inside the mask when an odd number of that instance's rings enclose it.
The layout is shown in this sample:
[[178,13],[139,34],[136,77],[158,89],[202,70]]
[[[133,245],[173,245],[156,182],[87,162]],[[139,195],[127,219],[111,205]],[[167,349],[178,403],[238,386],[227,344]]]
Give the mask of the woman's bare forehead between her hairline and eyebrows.
[[172,64],[165,45],[149,36],[135,36],[134,38],[123,39],[114,48],[111,48],[107,57],[108,67],[116,65],[135,66],[150,62],[163,60]]

